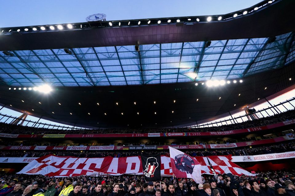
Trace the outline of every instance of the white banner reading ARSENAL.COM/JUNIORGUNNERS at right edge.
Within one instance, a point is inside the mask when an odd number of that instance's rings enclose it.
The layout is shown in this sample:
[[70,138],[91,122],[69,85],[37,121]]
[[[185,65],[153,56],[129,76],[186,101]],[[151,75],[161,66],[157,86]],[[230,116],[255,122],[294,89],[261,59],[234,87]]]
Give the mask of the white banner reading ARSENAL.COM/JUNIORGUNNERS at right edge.
[[264,155],[253,155],[253,156],[232,156],[232,162],[256,162],[256,161],[267,161],[276,159],[290,159],[295,158],[295,151],[282,152]]

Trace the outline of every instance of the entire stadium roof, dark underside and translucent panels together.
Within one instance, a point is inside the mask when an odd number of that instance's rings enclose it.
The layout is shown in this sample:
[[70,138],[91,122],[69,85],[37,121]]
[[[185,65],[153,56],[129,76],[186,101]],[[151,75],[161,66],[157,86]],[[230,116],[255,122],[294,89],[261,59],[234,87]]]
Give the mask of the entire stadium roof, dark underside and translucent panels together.
[[[267,2],[228,20],[212,16],[212,22],[180,17],[194,22],[6,28],[0,33],[0,103],[56,121],[121,127],[195,123],[262,100],[294,85],[295,69],[295,1]],[[195,86],[222,79],[244,82]],[[54,86],[51,94],[12,90],[44,83]]]

